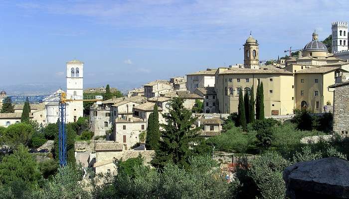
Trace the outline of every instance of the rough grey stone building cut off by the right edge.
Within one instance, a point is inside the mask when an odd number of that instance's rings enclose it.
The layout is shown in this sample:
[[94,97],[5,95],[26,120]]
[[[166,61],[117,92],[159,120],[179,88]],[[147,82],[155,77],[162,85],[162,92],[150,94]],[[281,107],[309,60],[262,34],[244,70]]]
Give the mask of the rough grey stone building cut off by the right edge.
[[333,131],[349,136],[349,81],[340,82],[329,86],[334,90]]

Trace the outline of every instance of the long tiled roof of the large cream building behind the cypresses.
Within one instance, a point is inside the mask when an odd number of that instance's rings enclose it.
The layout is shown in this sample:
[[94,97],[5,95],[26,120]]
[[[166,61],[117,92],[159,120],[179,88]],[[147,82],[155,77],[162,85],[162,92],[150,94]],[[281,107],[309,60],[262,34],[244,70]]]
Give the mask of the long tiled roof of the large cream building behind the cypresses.
[[228,70],[219,73],[221,74],[286,74],[292,75],[291,72],[284,69],[276,68],[273,66],[261,67],[260,69],[240,69],[240,68],[228,68]]

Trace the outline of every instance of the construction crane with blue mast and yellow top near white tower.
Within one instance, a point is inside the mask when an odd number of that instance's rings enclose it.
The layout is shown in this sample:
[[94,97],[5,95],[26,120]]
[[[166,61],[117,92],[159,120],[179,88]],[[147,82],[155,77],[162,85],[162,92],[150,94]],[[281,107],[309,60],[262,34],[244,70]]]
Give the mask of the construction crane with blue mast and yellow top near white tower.
[[[102,98],[95,99],[83,99],[74,100],[67,99],[65,93],[52,94],[52,95],[42,95],[42,96],[7,96],[11,103],[23,104],[26,101],[29,103],[43,103],[43,102],[58,102],[58,157],[59,165],[64,167],[67,165],[67,134],[66,134],[66,105],[67,102],[71,101],[102,101]],[[9,102],[3,100],[3,103]]]

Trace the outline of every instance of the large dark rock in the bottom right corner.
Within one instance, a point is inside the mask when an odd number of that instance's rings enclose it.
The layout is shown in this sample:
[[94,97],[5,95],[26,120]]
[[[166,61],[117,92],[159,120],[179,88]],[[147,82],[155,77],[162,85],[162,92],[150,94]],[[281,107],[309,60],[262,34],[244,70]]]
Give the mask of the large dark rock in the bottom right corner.
[[290,199],[349,199],[349,161],[323,158],[299,162],[283,173]]

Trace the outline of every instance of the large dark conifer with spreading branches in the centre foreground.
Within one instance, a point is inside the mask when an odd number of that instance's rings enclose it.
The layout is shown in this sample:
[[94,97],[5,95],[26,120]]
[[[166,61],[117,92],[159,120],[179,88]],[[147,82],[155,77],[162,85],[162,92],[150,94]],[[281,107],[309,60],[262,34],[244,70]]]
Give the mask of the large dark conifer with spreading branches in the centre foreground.
[[163,127],[160,148],[152,160],[154,167],[163,169],[166,163],[174,163],[179,168],[188,168],[189,157],[193,154],[190,145],[199,143],[198,132],[200,128],[192,128],[197,120],[191,116],[191,111],[184,108],[182,98],[170,101],[170,114],[163,115],[166,124]]

